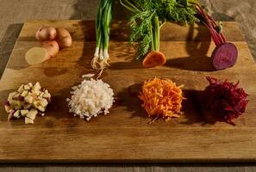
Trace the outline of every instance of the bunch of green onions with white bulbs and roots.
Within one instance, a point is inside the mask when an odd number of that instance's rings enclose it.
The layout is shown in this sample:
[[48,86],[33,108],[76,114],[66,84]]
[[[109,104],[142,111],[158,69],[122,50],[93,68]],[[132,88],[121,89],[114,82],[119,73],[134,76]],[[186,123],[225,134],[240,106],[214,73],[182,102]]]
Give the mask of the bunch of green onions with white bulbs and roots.
[[109,34],[110,23],[112,20],[114,0],[100,0],[97,9],[96,20],[96,50],[94,58],[91,61],[91,67],[95,70],[101,70],[109,65]]

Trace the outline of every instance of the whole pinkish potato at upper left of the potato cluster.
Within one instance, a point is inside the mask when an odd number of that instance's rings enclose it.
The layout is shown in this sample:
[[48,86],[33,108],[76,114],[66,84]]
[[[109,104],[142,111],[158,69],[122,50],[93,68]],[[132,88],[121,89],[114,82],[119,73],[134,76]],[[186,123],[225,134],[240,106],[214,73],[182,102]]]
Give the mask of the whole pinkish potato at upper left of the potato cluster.
[[44,27],[41,27],[35,33],[35,39],[39,41],[54,40],[56,38],[56,35],[57,35],[57,32],[55,28],[44,26]]

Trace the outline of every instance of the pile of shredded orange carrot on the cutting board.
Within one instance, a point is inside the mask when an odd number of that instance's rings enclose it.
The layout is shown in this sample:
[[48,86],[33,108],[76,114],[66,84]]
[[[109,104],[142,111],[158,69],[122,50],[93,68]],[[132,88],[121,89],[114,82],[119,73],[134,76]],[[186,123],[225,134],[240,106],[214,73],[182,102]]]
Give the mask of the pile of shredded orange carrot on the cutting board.
[[180,116],[181,103],[184,100],[181,86],[176,86],[169,79],[153,78],[145,81],[140,91],[142,107],[147,111],[148,117],[170,120]]

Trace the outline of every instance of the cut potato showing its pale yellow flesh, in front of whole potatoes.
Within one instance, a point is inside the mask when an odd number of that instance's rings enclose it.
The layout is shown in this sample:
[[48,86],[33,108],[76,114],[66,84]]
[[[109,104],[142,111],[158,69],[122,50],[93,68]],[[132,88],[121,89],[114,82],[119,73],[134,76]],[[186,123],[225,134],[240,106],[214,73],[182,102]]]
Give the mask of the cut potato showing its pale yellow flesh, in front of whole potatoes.
[[59,52],[58,43],[53,41],[42,42],[41,47],[33,47],[25,54],[28,64],[40,64],[49,58],[55,57]]

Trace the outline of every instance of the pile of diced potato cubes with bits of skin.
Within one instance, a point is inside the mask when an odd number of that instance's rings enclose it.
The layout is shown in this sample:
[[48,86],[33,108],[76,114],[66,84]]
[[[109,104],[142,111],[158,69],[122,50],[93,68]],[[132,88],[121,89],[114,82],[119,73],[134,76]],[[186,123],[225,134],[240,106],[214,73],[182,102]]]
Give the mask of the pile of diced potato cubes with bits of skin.
[[11,118],[25,118],[25,124],[34,124],[37,114],[44,115],[51,95],[47,89],[41,88],[40,83],[22,84],[17,91],[9,93],[7,102],[4,104],[5,110]]

